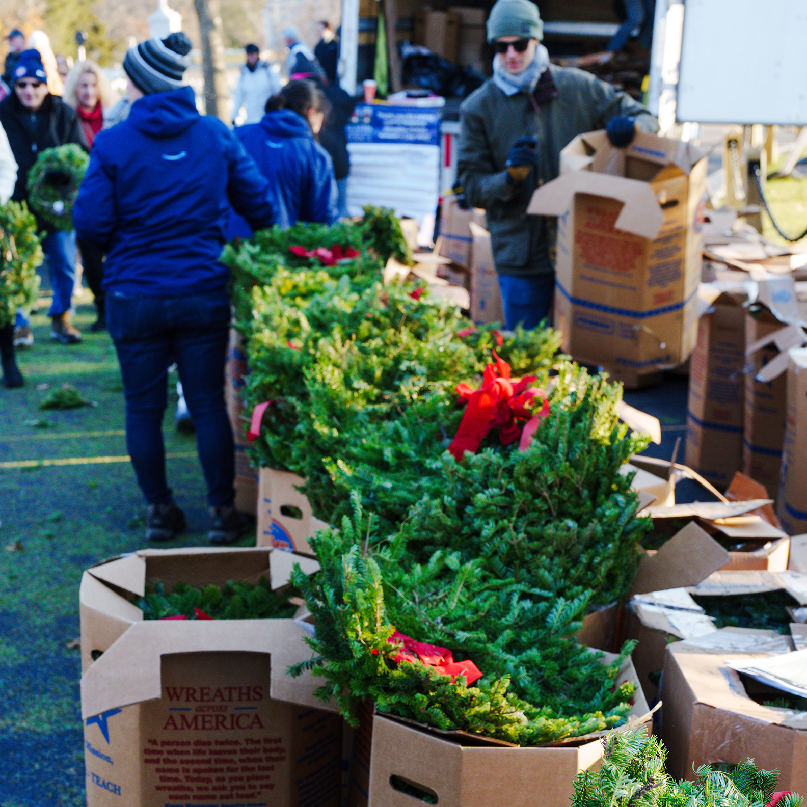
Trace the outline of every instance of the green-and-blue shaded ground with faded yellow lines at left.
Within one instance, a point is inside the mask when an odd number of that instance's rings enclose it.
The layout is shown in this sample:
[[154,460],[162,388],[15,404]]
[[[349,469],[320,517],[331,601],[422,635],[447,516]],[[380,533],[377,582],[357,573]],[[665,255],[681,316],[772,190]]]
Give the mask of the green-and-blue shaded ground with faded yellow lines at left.
[[[107,333],[90,333],[89,293],[79,303],[82,344],[51,342],[43,306],[31,322],[35,345],[18,352],[25,387],[0,386],[2,807],[85,804],[81,669],[77,648],[69,646],[79,636],[78,584],[94,562],[144,546],[144,503],[132,467],[108,461],[127,454],[115,349]],[[63,383],[98,406],[40,410]],[[175,401],[172,395],[164,428],[166,452],[176,455],[167,462],[169,483],[190,528],[169,546],[201,545],[204,479],[194,437],[174,430]],[[78,464],[29,462],[51,459]],[[29,466],[19,467],[23,462]]]

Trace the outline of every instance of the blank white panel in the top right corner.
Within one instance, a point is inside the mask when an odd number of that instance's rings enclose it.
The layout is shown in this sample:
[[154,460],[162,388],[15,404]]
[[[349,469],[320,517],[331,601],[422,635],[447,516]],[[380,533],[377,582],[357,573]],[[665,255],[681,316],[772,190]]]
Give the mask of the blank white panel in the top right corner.
[[807,125],[807,2],[685,0],[676,118]]

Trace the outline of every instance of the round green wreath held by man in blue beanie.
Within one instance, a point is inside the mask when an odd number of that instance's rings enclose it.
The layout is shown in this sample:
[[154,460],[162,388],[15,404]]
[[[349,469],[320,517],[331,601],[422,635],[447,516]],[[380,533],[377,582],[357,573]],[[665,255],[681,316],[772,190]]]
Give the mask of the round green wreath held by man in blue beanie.
[[90,165],[86,151],[75,143],[45,148],[28,171],[28,200],[48,224],[73,229],[73,205]]

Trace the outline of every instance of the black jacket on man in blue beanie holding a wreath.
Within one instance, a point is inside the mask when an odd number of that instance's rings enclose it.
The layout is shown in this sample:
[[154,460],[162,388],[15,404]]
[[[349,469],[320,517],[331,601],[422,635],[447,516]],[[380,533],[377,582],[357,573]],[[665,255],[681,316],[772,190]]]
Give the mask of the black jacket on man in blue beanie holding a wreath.
[[87,151],[90,150],[78,123],[76,111],[56,95],[46,95],[42,106],[31,114],[12,90],[7,98],[0,101],[0,123],[6,130],[18,166],[17,185],[11,196],[15,202],[27,201],[28,171],[44,148],[77,143]]

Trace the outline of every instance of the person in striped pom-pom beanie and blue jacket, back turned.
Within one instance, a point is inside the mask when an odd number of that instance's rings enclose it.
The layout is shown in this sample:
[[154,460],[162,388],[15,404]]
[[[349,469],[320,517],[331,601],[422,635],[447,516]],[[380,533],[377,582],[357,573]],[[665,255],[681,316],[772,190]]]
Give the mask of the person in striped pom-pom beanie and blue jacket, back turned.
[[165,479],[161,424],[176,361],[196,426],[215,544],[251,526],[233,505],[232,429],[224,406],[229,272],[219,257],[231,205],[256,229],[276,215],[266,178],[220,120],[183,86],[190,40],[173,33],[123,61],[132,109],[100,132],[73,210],[82,239],[107,253],[103,287],[126,396],[126,436],[148,503],[146,537],[165,541],[185,515]]

